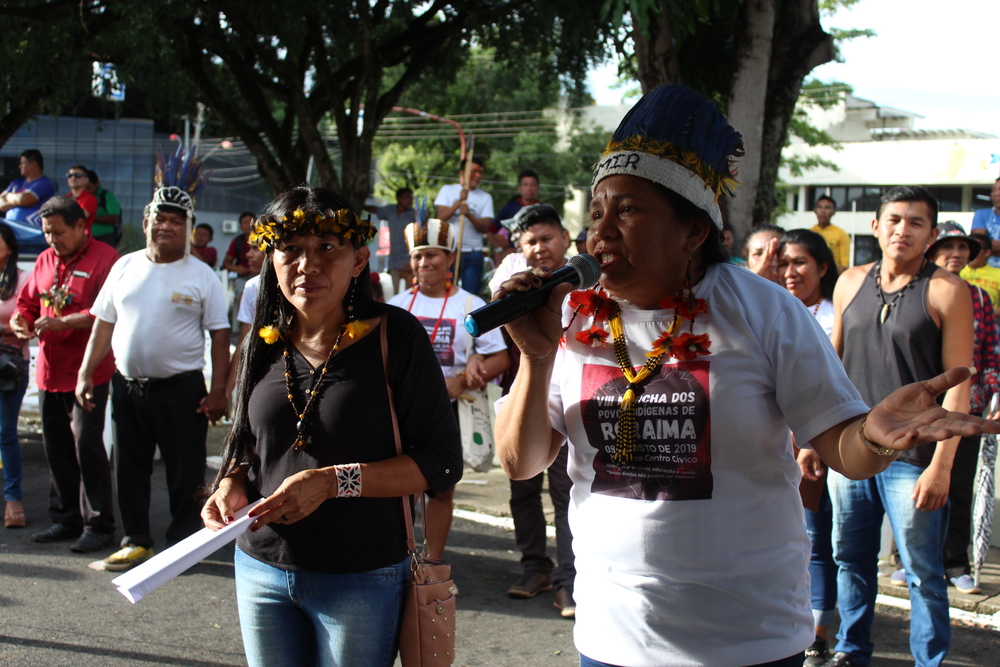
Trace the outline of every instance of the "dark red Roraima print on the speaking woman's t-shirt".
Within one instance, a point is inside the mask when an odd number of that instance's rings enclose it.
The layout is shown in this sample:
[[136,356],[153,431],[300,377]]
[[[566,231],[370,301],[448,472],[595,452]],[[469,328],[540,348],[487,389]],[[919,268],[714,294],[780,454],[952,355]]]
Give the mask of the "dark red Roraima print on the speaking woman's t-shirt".
[[664,365],[645,383],[635,403],[635,463],[619,468],[611,457],[628,381],[614,366],[584,365],[583,427],[597,450],[591,492],[642,500],[712,497],[708,367],[708,361]]

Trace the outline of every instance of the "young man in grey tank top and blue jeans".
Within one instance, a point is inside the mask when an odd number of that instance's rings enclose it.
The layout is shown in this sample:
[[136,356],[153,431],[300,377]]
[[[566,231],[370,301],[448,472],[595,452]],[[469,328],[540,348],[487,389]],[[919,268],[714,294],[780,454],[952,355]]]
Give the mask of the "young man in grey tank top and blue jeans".
[[[841,276],[831,339],[862,398],[874,406],[910,382],[972,363],[972,302],[957,276],[925,261],[937,237],[937,201],[924,188],[897,187],[882,197],[872,232],[883,258]],[[943,396],[968,412],[969,382]],[[839,566],[841,627],[834,667],[867,666],[878,591],[879,527],[888,514],[910,589],[910,650],[918,666],[942,663],[951,631],[942,543],[948,486],[959,438],[903,452],[862,481],[830,473],[833,547]]]

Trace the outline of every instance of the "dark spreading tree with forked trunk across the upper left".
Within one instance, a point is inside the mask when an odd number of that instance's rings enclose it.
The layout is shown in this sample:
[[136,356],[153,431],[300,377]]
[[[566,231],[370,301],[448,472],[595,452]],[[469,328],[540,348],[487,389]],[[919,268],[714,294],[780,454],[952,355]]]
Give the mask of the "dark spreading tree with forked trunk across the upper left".
[[[145,84],[158,116],[193,115],[196,101],[205,104],[254,154],[272,191],[304,182],[312,169],[360,205],[382,120],[423,75],[450,82],[473,43],[499,46],[511,61],[544,54],[552,81],[561,74],[581,99],[587,65],[604,49],[588,23],[593,11],[570,0],[300,0],[294,11],[236,0],[11,0],[0,16],[23,19],[5,28],[25,36],[11,48],[16,64],[37,61],[36,81],[60,74],[54,61],[68,70],[94,57],[58,57],[64,52],[47,32],[57,17],[67,44],[113,62],[126,83]],[[99,24],[114,38],[98,39]],[[36,94],[29,83],[8,88],[8,99],[23,102],[7,114],[15,129],[46,109],[46,95],[68,90]]]

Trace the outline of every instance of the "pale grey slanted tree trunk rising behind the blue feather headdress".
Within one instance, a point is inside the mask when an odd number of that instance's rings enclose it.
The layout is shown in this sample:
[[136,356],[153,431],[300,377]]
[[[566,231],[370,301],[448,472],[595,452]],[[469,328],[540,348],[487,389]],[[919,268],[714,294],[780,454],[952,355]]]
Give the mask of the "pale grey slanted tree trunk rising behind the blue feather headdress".
[[743,135],[746,156],[738,165],[740,187],[725,204],[725,218],[736,238],[745,238],[761,182],[764,111],[774,40],[776,0],[747,0],[742,9],[736,70],[729,93],[729,123]]

